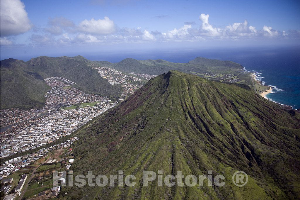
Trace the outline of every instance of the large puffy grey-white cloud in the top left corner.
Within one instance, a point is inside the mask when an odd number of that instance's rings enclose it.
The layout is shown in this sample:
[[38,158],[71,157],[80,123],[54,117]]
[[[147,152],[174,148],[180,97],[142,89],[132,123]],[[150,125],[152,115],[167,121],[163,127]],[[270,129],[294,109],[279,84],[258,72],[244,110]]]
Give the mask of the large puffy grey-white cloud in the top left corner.
[[25,5],[20,0],[1,0],[0,13],[1,37],[19,35],[32,28]]

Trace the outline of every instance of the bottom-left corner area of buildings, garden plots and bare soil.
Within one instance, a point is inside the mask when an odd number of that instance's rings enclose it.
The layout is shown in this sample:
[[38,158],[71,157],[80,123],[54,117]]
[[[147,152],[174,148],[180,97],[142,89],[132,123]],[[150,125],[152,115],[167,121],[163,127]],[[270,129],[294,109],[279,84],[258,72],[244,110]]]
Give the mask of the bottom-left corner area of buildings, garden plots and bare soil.
[[[51,169],[68,170],[70,168],[74,162],[73,148],[70,147],[78,139],[78,137],[73,137],[63,143],[5,161],[0,167],[0,191],[5,195],[4,199],[21,197],[47,199],[57,196],[60,192],[60,185],[52,185]],[[59,184],[65,181],[59,180]],[[36,192],[36,186],[41,187],[42,192]],[[26,187],[28,187],[27,190]]]

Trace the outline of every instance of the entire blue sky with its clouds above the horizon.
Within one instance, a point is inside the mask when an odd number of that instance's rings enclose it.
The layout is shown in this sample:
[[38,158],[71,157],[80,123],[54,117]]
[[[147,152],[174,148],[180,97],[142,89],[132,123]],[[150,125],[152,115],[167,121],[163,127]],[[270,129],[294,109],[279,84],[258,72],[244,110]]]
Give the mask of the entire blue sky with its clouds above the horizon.
[[300,1],[1,0],[1,59],[300,45]]

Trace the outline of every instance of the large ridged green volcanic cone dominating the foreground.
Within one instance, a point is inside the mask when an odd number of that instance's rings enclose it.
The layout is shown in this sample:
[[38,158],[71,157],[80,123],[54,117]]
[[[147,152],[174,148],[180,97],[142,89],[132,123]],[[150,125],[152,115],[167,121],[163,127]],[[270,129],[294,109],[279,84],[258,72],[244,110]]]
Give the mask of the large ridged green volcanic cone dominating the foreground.
[[[71,170],[77,174],[133,174],[134,187],[63,187],[68,199],[292,199],[300,198],[300,123],[297,112],[249,87],[170,71],[81,132]],[[223,187],[143,187],[143,170],[185,176],[222,174]],[[244,187],[232,183],[245,171]],[[117,180],[116,180],[117,182]],[[94,180],[95,183],[95,180]],[[68,194],[65,194],[65,193]]]

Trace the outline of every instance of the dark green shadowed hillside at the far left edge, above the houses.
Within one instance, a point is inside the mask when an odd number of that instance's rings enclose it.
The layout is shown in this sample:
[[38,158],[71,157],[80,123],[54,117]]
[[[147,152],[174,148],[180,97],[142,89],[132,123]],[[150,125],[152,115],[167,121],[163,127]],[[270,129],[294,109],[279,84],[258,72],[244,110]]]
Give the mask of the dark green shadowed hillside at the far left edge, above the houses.
[[16,59],[1,61],[1,109],[43,107],[50,89],[43,77]]

